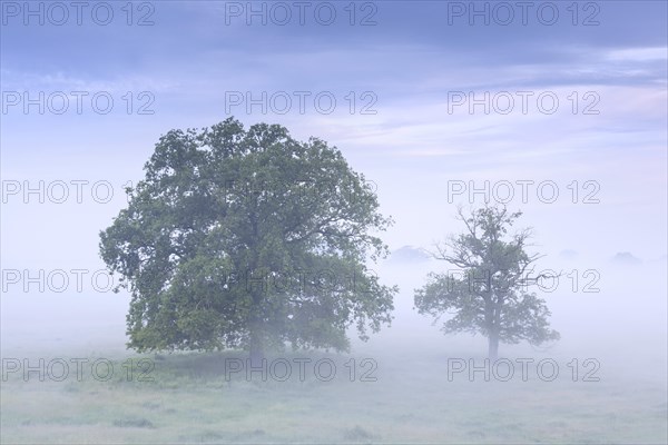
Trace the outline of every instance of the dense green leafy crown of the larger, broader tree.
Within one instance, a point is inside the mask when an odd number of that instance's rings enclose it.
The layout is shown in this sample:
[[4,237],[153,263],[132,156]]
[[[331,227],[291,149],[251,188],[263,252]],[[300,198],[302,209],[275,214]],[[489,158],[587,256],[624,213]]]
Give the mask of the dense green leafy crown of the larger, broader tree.
[[[345,350],[389,324],[396,288],[379,284],[370,234],[392,221],[335,147],[229,118],[171,130],[129,205],[100,233],[100,255],[131,291],[128,346]],[[117,288],[118,289],[118,288]]]

